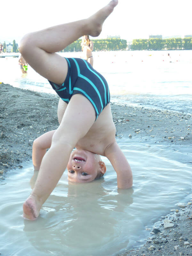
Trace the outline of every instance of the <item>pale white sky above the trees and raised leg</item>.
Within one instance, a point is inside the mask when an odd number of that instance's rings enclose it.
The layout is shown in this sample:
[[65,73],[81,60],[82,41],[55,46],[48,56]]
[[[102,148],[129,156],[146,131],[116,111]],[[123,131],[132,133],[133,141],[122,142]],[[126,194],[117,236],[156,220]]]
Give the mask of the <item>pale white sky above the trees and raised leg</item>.
[[[87,18],[107,3],[108,0],[1,1],[0,42],[12,43],[15,39],[19,43],[28,32]],[[191,7],[191,0],[119,0],[99,38],[120,35],[132,41],[151,34],[192,34]]]

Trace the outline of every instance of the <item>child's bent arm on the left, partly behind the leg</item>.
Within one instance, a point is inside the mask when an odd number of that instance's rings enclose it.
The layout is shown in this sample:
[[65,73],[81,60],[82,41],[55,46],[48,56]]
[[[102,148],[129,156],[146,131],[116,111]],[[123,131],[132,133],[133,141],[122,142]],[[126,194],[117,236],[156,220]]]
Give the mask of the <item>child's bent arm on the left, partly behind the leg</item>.
[[34,170],[38,171],[41,165],[41,161],[47,151],[47,148],[51,147],[52,136],[56,130],[46,132],[38,137],[33,142],[32,160]]

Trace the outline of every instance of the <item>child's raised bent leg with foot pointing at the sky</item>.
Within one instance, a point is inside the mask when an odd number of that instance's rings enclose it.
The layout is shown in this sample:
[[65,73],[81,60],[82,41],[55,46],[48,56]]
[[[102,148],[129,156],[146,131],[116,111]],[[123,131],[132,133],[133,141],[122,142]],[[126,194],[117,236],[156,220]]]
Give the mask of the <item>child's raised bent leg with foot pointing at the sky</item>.
[[20,42],[22,56],[41,76],[53,83],[63,84],[68,70],[67,61],[54,52],[64,49],[83,35],[98,36],[104,20],[117,3],[118,0],[111,1],[89,19],[27,34]]

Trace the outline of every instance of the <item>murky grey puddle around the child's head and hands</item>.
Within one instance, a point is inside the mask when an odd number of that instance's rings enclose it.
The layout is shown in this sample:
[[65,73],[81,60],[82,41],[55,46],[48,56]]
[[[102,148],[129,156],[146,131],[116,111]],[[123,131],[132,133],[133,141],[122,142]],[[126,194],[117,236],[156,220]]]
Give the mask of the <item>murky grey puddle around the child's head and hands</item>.
[[36,221],[21,217],[37,174],[32,163],[1,181],[2,255],[115,256],[143,244],[150,232],[145,228],[190,196],[192,156],[163,145],[119,145],[132,167],[132,188],[117,189],[116,173],[103,157],[104,179],[68,184],[64,172]]

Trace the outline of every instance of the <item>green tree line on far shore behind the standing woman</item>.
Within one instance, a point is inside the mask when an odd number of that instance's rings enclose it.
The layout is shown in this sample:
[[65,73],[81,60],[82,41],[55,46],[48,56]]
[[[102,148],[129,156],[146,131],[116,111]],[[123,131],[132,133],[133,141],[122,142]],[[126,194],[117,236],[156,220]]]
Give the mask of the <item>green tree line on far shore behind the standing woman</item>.
[[[61,52],[81,52],[81,39],[68,45]],[[93,51],[124,51],[127,48],[127,41],[120,38],[93,39]]]

